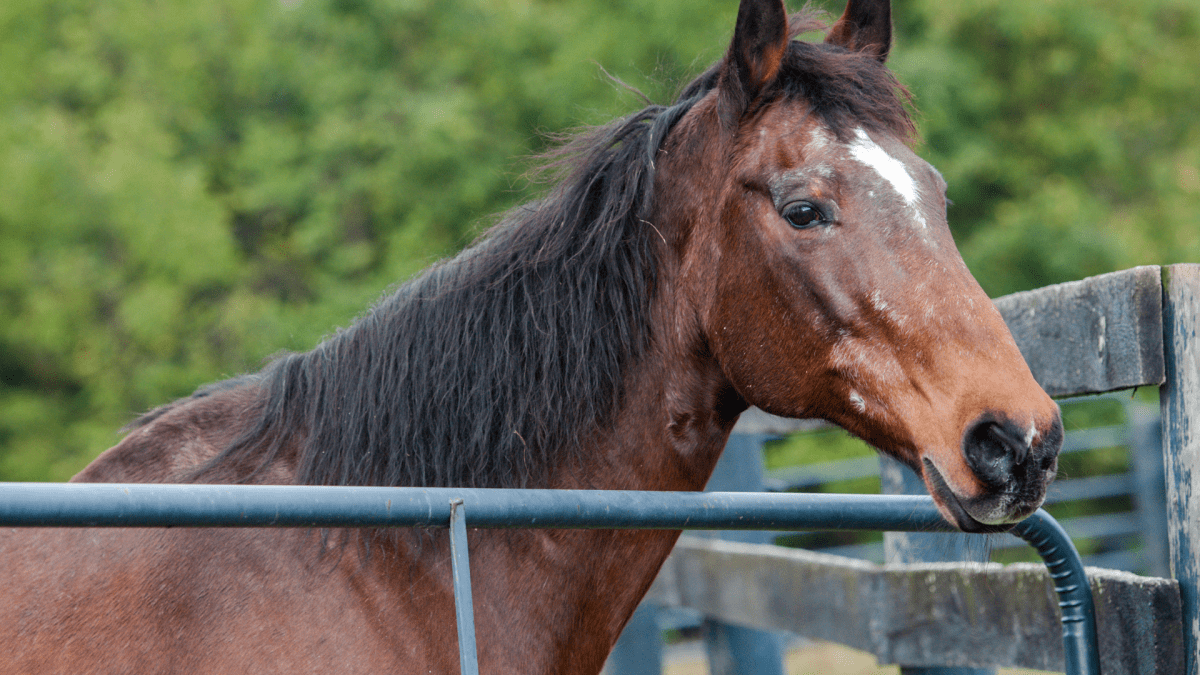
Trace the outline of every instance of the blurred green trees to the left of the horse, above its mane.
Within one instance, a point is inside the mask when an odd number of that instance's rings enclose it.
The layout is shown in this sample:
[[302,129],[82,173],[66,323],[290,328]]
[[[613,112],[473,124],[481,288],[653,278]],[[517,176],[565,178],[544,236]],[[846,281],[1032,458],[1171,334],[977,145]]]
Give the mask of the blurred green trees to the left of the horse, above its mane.
[[311,347],[528,198],[540,131],[634,107],[601,64],[665,97],[715,58],[716,6],[5,4],[0,478]]

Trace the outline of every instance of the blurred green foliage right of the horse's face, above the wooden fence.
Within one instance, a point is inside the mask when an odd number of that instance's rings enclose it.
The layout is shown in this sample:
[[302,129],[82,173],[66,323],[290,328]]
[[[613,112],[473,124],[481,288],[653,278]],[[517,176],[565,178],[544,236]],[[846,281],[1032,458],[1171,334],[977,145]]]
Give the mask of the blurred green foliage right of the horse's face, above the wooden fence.
[[1200,259],[1194,2],[911,0],[896,17],[893,67],[989,293]]

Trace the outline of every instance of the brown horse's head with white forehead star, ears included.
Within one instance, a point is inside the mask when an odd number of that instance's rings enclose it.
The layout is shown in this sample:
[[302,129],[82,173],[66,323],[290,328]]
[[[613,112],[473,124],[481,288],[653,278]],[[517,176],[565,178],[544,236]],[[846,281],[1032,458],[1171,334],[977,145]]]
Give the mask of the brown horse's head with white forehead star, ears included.
[[908,147],[888,1],[850,0],[820,44],[791,20],[781,0],[742,2],[659,156],[672,199],[654,220],[676,223],[696,289],[678,321],[745,402],[830,420],[917,471],[961,530],[1003,530],[1045,497],[1058,407],[964,264],[946,183]]

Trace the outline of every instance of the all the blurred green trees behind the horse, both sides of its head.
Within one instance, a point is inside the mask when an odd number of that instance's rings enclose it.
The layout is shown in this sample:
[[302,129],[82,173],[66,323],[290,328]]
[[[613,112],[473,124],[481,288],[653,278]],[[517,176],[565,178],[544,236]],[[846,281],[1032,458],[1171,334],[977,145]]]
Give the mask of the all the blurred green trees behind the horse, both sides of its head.
[[[994,295],[1200,261],[1192,0],[895,0],[919,153]],[[793,7],[798,8],[798,7]],[[838,13],[840,4],[828,7]],[[306,350],[655,101],[736,0],[0,5],[0,479]]]

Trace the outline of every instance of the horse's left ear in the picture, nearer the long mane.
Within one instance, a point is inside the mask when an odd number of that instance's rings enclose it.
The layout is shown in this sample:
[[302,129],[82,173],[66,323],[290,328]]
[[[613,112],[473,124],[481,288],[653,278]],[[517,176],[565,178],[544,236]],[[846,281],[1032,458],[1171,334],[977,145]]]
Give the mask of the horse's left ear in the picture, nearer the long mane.
[[719,84],[721,117],[726,123],[736,123],[774,82],[787,42],[784,0],[742,0]]

